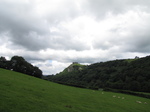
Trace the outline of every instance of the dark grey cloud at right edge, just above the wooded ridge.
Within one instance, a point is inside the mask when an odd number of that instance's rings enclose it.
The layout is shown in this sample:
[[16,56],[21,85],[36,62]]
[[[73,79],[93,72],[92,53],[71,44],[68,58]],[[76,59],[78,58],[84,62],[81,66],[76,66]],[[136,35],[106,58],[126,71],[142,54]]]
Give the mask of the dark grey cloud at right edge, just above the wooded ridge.
[[127,51],[150,53],[150,23],[147,19],[143,19],[143,24],[130,29],[128,40],[125,41]]

